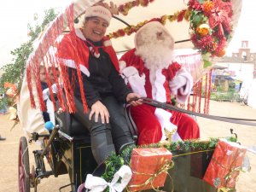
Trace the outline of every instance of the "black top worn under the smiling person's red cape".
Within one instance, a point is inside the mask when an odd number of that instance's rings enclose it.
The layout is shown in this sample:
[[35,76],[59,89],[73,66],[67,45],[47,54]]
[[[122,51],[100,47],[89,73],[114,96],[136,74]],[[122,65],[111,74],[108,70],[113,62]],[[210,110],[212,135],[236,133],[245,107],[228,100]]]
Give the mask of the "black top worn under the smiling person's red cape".
[[[100,46],[100,43],[94,43]],[[127,87],[124,79],[121,78],[116,68],[113,66],[109,55],[102,49],[99,49],[100,57],[89,56],[89,72],[90,77],[82,73],[84,94],[89,107],[96,101],[101,101],[104,96],[113,95],[119,102],[126,102],[126,96],[131,93],[131,89]],[[74,79],[74,95],[81,98],[79,81],[76,69],[68,68],[69,77]]]

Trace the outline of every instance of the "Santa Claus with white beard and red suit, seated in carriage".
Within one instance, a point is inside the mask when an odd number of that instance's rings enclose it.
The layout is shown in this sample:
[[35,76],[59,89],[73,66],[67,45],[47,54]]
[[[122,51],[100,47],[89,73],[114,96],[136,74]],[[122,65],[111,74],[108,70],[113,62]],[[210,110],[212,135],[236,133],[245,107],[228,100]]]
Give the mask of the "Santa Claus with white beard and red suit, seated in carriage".
[[[173,58],[172,35],[158,21],[148,22],[135,36],[135,49],[120,59],[120,72],[131,89],[141,96],[171,103],[172,96],[183,103],[189,97],[193,79]],[[173,140],[200,137],[199,126],[187,114],[143,104],[131,107],[139,133],[138,144],[166,139],[165,130],[175,132]]]

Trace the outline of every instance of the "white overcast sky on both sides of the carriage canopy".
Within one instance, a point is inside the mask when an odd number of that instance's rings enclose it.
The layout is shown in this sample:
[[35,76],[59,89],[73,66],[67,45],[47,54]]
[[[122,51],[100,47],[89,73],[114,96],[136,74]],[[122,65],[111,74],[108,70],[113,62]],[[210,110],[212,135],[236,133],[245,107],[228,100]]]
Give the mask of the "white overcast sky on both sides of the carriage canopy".
[[[27,41],[27,24],[32,23],[33,15],[44,16],[49,8],[65,8],[72,0],[3,0],[0,6],[0,65],[11,61],[10,50],[20,47]],[[239,25],[230,42],[227,54],[236,52],[241,40],[249,40],[249,47],[256,52],[256,1],[243,0]]]

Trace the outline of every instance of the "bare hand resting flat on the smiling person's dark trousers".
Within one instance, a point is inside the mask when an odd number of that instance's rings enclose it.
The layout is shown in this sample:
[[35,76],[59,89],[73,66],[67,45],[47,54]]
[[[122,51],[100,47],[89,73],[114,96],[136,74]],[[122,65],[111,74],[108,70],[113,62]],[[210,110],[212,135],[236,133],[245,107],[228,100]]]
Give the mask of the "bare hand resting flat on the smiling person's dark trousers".
[[98,119],[100,118],[99,115],[101,116],[102,124],[104,124],[105,122],[107,124],[109,123],[108,109],[102,104],[102,102],[97,101],[91,106],[91,111],[90,111],[90,115],[89,115],[90,120],[91,120],[93,114],[95,114],[95,122],[96,123],[98,122]]

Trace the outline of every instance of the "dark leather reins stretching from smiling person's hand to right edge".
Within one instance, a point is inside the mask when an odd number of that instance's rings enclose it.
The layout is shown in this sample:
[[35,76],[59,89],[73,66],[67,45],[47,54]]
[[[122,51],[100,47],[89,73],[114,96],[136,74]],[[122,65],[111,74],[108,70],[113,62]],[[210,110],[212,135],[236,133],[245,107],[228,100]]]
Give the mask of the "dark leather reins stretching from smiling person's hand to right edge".
[[187,113],[187,114],[195,115],[202,118],[219,120],[219,121],[229,122],[233,124],[256,126],[256,123],[247,122],[247,121],[256,121],[256,119],[231,118],[231,117],[222,117],[222,116],[216,116],[211,114],[197,113],[197,112],[189,111],[183,108],[177,108],[176,106],[172,106],[170,104],[167,104],[166,102],[158,102],[146,97],[137,98],[136,100],[138,99],[142,100],[143,103],[153,106],[155,108],[169,109],[172,111],[178,111],[181,113]]

